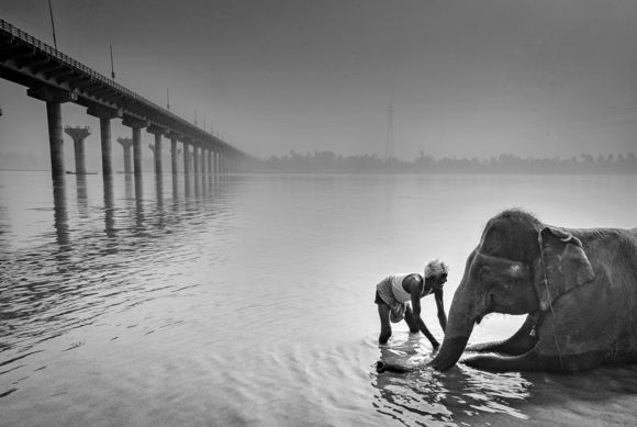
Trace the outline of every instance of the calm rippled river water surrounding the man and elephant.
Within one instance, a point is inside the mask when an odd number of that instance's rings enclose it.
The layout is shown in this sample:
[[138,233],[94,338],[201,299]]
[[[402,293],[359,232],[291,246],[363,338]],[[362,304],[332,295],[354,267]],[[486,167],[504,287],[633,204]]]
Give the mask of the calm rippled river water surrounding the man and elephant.
[[[377,374],[431,359],[375,285],[451,266],[523,206],[568,227],[637,226],[637,177],[0,171],[2,426],[632,425],[637,370]],[[424,319],[442,340],[435,303]],[[493,315],[472,342],[522,323]]]

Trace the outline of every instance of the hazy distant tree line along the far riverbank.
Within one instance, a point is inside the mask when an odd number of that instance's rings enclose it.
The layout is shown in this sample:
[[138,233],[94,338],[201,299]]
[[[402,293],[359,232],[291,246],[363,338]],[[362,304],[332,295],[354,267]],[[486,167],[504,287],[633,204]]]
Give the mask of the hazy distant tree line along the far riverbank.
[[332,151],[308,153],[305,156],[290,151],[282,157],[272,156],[252,165],[255,170],[280,172],[409,172],[409,173],[637,173],[637,157],[627,155],[597,156],[582,154],[579,158],[560,160],[551,158],[522,158],[514,155],[491,156],[479,160],[456,157],[436,159],[421,150],[413,161],[395,157],[382,159],[376,155],[337,156]]

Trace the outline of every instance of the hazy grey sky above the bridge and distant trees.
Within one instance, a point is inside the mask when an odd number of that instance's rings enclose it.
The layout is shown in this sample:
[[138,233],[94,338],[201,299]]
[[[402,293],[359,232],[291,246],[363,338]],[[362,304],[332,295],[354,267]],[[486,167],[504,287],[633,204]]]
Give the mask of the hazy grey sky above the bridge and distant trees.
[[[58,49],[245,151],[568,158],[637,153],[637,1],[52,0]],[[47,0],[0,18],[53,46]],[[0,153],[48,153],[0,80]],[[65,125],[99,121],[63,105]],[[113,121],[113,142],[131,130]],[[72,144],[65,136],[66,149]],[[153,135],[143,133],[144,146]],[[115,143],[115,149],[119,145]],[[45,151],[46,150],[46,151]],[[145,149],[145,156],[150,151]]]

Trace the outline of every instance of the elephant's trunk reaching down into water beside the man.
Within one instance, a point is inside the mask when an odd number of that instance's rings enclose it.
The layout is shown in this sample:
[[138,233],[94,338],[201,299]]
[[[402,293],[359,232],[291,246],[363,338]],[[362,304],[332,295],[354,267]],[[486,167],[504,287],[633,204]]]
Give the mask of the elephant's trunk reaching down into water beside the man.
[[439,371],[451,368],[460,359],[473,330],[476,319],[481,318],[481,316],[474,315],[476,300],[467,295],[463,292],[463,288],[462,283],[460,283],[454,295],[443,346],[436,357],[428,363],[429,367]]

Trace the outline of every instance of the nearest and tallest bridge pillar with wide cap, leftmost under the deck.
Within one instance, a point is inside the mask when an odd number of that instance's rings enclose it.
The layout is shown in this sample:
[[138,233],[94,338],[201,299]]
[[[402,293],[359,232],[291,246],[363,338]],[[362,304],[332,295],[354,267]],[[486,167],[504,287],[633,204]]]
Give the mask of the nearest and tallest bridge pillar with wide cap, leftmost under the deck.
[[45,88],[30,88],[26,94],[46,102],[46,119],[48,122],[48,146],[51,148],[51,175],[64,177],[64,136],[62,134],[62,104],[77,101],[77,93]]

